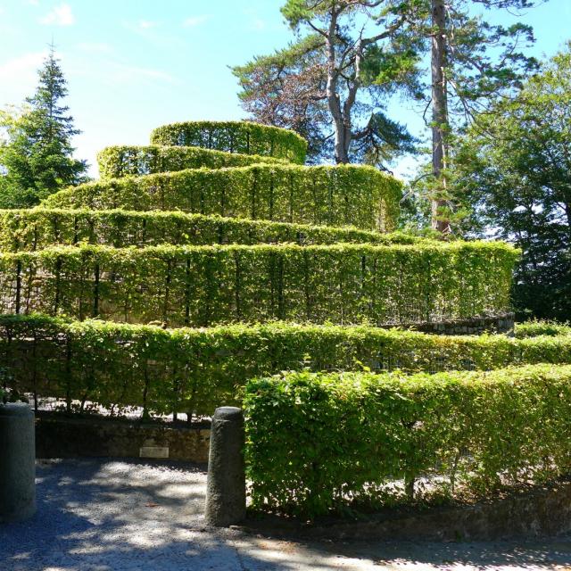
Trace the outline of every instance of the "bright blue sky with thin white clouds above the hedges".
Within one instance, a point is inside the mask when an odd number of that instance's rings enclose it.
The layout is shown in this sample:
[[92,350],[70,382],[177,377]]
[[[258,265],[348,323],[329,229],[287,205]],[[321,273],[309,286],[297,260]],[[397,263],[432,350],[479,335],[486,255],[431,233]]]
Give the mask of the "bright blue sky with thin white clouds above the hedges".
[[[230,65],[285,46],[282,0],[0,0],[0,107],[20,104],[54,38],[68,79],[67,104],[83,133],[77,155],[92,165],[106,145],[145,145],[178,120],[244,118]],[[538,56],[571,38],[571,0],[550,0],[492,21],[534,26]],[[394,119],[422,133],[418,110],[391,104]],[[403,176],[413,161],[400,161]],[[96,170],[92,168],[92,175]]]

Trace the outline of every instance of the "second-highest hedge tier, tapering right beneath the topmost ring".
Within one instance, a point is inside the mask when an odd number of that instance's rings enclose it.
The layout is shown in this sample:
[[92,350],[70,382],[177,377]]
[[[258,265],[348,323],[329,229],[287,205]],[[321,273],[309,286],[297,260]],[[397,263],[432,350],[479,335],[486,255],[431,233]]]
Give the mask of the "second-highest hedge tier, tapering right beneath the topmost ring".
[[149,175],[172,170],[244,167],[263,162],[285,163],[273,157],[224,153],[195,146],[117,145],[108,146],[97,153],[101,178]]

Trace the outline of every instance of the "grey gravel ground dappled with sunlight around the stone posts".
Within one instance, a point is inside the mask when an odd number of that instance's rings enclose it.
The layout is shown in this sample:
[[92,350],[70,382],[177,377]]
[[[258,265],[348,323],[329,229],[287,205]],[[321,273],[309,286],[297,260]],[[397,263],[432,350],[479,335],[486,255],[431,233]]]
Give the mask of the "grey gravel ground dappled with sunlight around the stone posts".
[[37,516],[0,525],[10,571],[571,571],[571,538],[534,542],[285,542],[203,523],[204,467],[111,459],[37,465]]

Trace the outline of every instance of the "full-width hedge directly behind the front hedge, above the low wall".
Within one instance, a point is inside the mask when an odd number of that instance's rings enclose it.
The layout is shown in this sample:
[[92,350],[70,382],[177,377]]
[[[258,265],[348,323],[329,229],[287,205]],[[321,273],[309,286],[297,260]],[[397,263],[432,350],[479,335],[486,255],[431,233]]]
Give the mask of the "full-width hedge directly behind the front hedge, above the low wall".
[[91,401],[116,414],[140,406],[148,414],[211,415],[236,403],[248,379],[282,370],[434,372],[539,362],[571,363],[571,338],[285,323],[163,329],[0,316],[0,385],[62,398],[69,410]]

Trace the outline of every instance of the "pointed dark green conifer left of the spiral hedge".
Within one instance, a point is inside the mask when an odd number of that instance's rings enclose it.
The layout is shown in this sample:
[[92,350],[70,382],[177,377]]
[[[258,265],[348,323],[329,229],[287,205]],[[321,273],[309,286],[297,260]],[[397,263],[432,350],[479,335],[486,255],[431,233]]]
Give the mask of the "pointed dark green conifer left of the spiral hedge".
[[64,186],[85,180],[86,161],[73,158],[74,128],[69,107],[62,105],[68,93],[54,47],[39,70],[36,93],[26,99],[19,115],[3,112],[0,125],[5,141],[0,145],[0,206],[29,207]]

